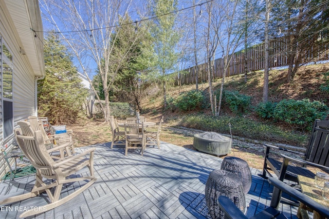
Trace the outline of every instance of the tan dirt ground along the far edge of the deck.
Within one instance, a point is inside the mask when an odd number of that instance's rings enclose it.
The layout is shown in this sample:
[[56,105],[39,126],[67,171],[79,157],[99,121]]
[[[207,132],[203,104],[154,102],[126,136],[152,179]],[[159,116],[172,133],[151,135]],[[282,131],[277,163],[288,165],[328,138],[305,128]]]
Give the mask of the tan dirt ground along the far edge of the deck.
[[[158,121],[155,121],[158,122]],[[73,137],[77,147],[94,145],[112,141],[111,127],[102,121],[85,120],[75,125],[68,126],[67,129],[73,130]],[[149,131],[155,131],[156,128],[148,128]],[[172,128],[163,124],[161,129],[160,140],[168,142],[179,147],[185,147],[192,150],[193,132]],[[261,147],[261,146],[260,146]],[[200,152],[201,153],[201,152]],[[264,158],[262,149],[251,150],[240,148],[234,150],[234,156],[243,158],[248,162],[250,167],[261,169]],[[228,154],[233,156],[233,153]],[[223,156],[224,158],[225,156]]]

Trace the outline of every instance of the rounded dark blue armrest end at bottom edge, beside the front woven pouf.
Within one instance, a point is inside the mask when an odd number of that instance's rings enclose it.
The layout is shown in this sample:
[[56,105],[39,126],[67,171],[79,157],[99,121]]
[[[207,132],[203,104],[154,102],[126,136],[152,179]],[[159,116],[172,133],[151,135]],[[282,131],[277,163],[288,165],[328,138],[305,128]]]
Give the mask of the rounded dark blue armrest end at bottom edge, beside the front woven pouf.
[[235,206],[235,204],[230,200],[230,198],[221,195],[218,197],[218,205],[224,212],[225,219],[244,219],[246,217],[242,211]]

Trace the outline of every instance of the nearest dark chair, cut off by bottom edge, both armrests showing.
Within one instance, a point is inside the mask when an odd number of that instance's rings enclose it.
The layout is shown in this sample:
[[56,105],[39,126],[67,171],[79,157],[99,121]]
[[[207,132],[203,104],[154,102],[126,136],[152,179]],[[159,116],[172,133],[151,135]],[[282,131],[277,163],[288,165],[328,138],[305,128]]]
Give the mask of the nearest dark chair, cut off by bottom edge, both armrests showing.
[[[312,200],[312,198],[308,197],[307,195],[303,194],[302,192],[294,189],[293,187],[288,186],[287,184],[281,182],[277,178],[269,177],[268,178],[269,184],[273,185],[273,193],[270,202],[270,206],[265,208],[263,211],[255,214],[254,216],[250,217],[252,219],[266,219],[266,218],[287,218],[283,212],[280,212],[278,209],[281,199],[282,192],[290,195],[291,197],[296,198],[299,202],[305,204],[309,208],[317,211],[322,216],[329,218],[329,209],[325,206],[317,203],[316,201]],[[230,200],[230,198],[226,196],[218,197],[218,206],[224,213],[225,219],[247,219],[243,212],[237,208],[234,203]]]

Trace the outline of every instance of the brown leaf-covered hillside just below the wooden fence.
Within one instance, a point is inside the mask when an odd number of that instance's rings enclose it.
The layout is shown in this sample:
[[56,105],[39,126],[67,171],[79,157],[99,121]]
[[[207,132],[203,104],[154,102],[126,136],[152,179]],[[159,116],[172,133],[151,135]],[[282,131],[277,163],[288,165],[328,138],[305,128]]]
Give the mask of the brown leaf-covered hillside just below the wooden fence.
[[[329,105],[329,93],[321,91],[320,86],[326,83],[326,78],[323,73],[329,72],[329,63],[302,66],[299,68],[295,79],[292,83],[285,83],[285,75],[287,69],[284,70],[270,70],[269,72],[269,90],[268,100],[271,102],[280,102],[282,99],[303,99],[309,98],[311,101],[321,101]],[[329,78],[328,78],[329,79]],[[214,90],[220,89],[222,79],[217,79],[213,82]],[[236,90],[241,94],[251,96],[253,106],[262,102],[263,98],[263,82],[264,72],[251,72],[247,75],[247,83],[244,82],[244,75],[237,75],[227,77],[224,89]],[[328,82],[327,82],[328,83]],[[208,83],[200,83],[199,90],[205,91],[209,88]],[[168,95],[177,97],[183,91],[190,91],[195,89],[195,85],[169,86]],[[154,89],[153,95],[144,98],[142,103],[143,111],[150,116],[157,116],[156,114],[173,115],[170,110],[163,111],[163,95],[160,88]],[[202,110],[203,113],[210,113],[209,110]],[[174,112],[174,114],[182,114],[181,112]],[[195,112],[197,113],[197,112]],[[223,108],[222,113],[230,113],[227,108]]]

